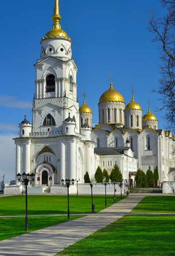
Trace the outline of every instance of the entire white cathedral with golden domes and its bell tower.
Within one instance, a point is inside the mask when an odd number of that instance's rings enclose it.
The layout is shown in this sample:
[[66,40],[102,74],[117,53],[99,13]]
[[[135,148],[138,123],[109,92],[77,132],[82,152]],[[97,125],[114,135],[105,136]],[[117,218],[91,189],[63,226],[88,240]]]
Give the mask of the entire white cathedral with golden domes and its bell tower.
[[25,116],[20,137],[14,139],[16,174],[35,173],[35,185],[61,184],[66,178],[84,183],[86,171],[93,180],[98,166],[110,173],[118,164],[123,179],[134,179],[138,168],[146,173],[158,166],[160,182],[175,181],[175,137],[171,130],[158,129],[149,106],[142,115],[133,90],[131,102],[125,104],[111,79],[98,102],[98,125],[92,127],[85,92],[81,106],[77,100],[78,68],[72,59],[72,40],[61,29],[58,0],[52,20],[34,65],[32,124]]

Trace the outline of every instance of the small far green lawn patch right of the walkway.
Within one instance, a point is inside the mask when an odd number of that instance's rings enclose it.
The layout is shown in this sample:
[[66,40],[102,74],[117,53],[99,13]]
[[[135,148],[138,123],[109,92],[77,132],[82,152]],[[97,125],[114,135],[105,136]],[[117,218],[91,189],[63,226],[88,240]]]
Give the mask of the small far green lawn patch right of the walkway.
[[175,213],[175,196],[146,196],[131,212]]

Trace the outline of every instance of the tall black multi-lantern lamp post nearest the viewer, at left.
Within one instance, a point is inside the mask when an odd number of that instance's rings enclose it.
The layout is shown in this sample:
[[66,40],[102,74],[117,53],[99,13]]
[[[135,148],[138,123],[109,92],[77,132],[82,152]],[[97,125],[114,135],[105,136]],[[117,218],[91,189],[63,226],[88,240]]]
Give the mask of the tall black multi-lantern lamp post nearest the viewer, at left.
[[[35,180],[35,174],[34,173],[22,173],[22,175],[20,173],[18,173],[17,175],[17,180],[18,182],[24,184],[24,186],[26,186],[26,231],[28,231],[28,212],[27,212],[27,186],[28,184],[31,184],[32,182],[34,182]],[[22,176],[22,180],[21,180],[21,176]]]

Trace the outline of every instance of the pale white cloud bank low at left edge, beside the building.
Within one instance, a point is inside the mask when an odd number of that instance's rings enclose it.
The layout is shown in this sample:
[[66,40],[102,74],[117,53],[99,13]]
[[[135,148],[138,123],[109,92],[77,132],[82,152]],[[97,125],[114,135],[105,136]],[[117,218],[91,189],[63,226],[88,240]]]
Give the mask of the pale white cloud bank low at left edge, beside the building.
[[5,175],[4,181],[15,180],[15,133],[0,135],[0,180]]

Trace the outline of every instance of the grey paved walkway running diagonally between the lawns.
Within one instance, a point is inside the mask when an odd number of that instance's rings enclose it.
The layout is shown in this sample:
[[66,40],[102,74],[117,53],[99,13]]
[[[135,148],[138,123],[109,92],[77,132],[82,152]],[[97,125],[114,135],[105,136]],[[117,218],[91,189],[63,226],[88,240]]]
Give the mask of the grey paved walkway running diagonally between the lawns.
[[133,194],[99,213],[0,242],[0,256],[53,256],[129,213],[145,194]]

